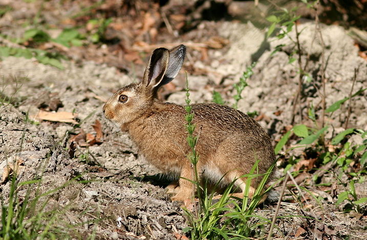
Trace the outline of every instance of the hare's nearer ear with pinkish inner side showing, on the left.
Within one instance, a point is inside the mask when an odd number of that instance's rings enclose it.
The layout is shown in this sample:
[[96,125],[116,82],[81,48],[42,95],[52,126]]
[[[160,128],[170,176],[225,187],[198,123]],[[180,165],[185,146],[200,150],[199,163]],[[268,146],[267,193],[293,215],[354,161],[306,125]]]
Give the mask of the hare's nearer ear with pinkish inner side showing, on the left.
[[149,85],[152,88],[158,86],[167,70],[168,60],[169,53],[167,49],[158,48],[154,50],[146,66],[142,85]]

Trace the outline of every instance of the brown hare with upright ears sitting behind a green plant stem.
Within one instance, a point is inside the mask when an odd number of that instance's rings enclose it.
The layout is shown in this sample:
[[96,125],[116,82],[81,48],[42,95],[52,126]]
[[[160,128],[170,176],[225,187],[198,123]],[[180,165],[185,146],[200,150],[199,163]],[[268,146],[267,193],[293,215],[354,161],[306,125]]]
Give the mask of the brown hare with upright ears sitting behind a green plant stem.
[[[158,89],[179,73],[186,47],[154,50],[140,83],[118,90],[103,106],[104,116],[131,136],[146,160],[167,173],[178,174],[179,185],[169,185],[176,195],[172,201],[189,199],[192,194],[192,166],[186,156],[184,106],[163,103],[157,99]],[[200,131],[196,150],[198,172],[207,179],[235,184],[245,190],[244,174],[257,163],[255,173],[264,174],[274,163],[275,155],[269,135],[251,117],[234,108],[215,103],[192,104],[192,122]],[[271,173],[271,176],[273,172]],[[270,176],[270,177],[271,177]],[[262,177],[253,178],[249,197]],[[270,179],[270,178],[269,178]],[[244,193],[234,193],[243,197]],[[261,200],[263,202],[265,197]]]

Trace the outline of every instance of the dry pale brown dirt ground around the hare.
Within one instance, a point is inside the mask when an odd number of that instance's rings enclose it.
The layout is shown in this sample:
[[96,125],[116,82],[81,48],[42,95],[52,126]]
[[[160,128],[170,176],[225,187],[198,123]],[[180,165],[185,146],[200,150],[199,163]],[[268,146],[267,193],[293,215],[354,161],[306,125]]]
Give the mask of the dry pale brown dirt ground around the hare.
[[[36,11],[35,7],[29,6],[27,14],[34,14],[32,11]],[[18,16],[22,13],[21,9],[17,9],[15,4],[12,7],[13,12],[0,19],[3,24],[4,18],[24,17]],[[170,6],[169,11],[179,12],[175,6]],[[44,17],[52,21],[54,13]],[[161,28],[165,29],[164,26]],[[354,69],[359,69],[354,89],[366,88],[367,61],[358,55],[359,49],[348,30],[337,25],[321,24],[326,46],[323,49],[320,38],[315,37],[314,21],[301,18],[298,29],[302,30],[299,40],[305,53],[302,56],[304,61],[307,54],[312,56],[308,68],[314,79],[318,79],[320,74],[321,53],[325,51],[328,105],[349,96]],[[10,26],[3,28],[3,33],[17,31]],[[187,71],[193,102],[212,101],[212,92],[215,90],[231,104],[234,102],[232,85],[239,81],[247,66],[257,61],[238,107],[245,113],[257,112],[256,120],[270,134],[275,146],[286,132],[285,129],[292,124],[292,100],[298,81],[297,62],[289,63],[292,50],[288,46],[292,45],[292,41],[289,38],[267,39],[266,29],[259,29],[250,21],[244,23],[226,18],[201,20],[195,28],[180,34],[175,36],[175,33],[162,30],[154,42],[167,48],[173,47],[174,43],[189,43],[186,44],[187,57],[183,69],[172,84],[160,93],[161,99],[184,104]],[[291,35],[295,36],[294,30]],[[125,41],[133,41],[133,36],[125,38]],[[194,43],[218,47],[199,48]],[[3,46],[7,44],[4,39],[0,42]],[[286,47],[272,54],[280,44]],[[66,209],[60,221],[78,226],[70,233],[75,239],[89,236],[93,231],[99,239],[180,239],[177,233],[183,234],[182,230],[188,223],[180,208],[181,203],[171,202],[166,194],[164,187],[170,179],[147,163],[128,135],[119,132],[102,116],[106,99],[121,86],[142,78],[145,63],[153,48],[141,47],[140,52],[144,54],[138,55],[139,58],[131,61],[124,58],[119,63],[111,63],[118,61],[117,56],[115,59],[106,59],[108,55],[114,56],[111,46],[101,44],[93,46],[95,49],[83,48],[87,47],[72,47],[68,50],[70,58],[62,60],[63,70],[41,64],[34,58],[9,56],[0,60],[2,94],[12,96],[10,103],[0,106],[0,176],[6,162],[21,160],[23,167],[18,180],[28,181],[42,176],[39,191],[46,192],[81,174],[81,178],[87,181],[72,181],[51,194],[46,207]],[[85,55],[79,53],[82,51]],[[305,84],[307,97],[299,104],[299,111],[303,114],[297,114],[295,122],[311,126],[311,120],[302,116],[307,116],[311,104],[320,105],[320,95],[313,85],[319,87],[320,82]],[[344,130],[342,121],[347,116],[346,107],[342,106],[327,119],[327,123],[333,127],[329,135]],[[356,96],[349,127],[367,130],[366,108],[366,93]],[[320,114],[317,109],[317,114]],[[70,122],[60,121],[60,116],[55,121],[39,120],[36,115],[40,110],[74,115],[69,119]],[[71,143],[71,140],[76,144]],[[290,141],[292,146],[297,139]],[[361,140],[353,138],[350,141]],[[303,150],[305,148],[296,148],[288,155],[305,158]],[[281,158],[278,162],[282,173],[287,158]],[[305,172],[300,184],[308,182],[312,174]],[[323,174],[321,182],[330,181],[336,181],[332,174]],[[9,194],[10,184],[10,181],[4,181],[0,185],[3,196]],[[366,182],[356,183],[355,187],[360,198],[367,197]],[[319,219],[279,218],[276,236],[284,238],[288,235],[292,239],[365,239],[366,213],[343,213],[343,204],[335,206],[340,188],[342,186],[335,184],[332,192],[325,192],[315,185],[307,185],[309,191],[321,198],[318,203],[308,198],[302,207],[286,191],[279,215],[316,215]],[[26,187],[20,188],[19,197],[24,197],[26,191]],[[36,194],[36,191],[31,194]],[[275,204],[266,205],[256,209],[255,214],[271,220],[274,208]]]

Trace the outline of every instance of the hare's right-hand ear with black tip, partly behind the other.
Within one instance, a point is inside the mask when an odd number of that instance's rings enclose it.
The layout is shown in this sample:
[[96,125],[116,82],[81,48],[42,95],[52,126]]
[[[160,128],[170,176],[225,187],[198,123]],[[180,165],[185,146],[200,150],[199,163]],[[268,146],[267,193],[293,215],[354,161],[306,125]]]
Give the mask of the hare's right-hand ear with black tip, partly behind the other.
[[168,67],[162,81],[159,83],[159,86],[167,84],[168,82],[172,81],[180,72],[182,64],[185,60],[186,47],[185,45],[179,45],[175,48],[168,50],[168,52],[169,52]]

